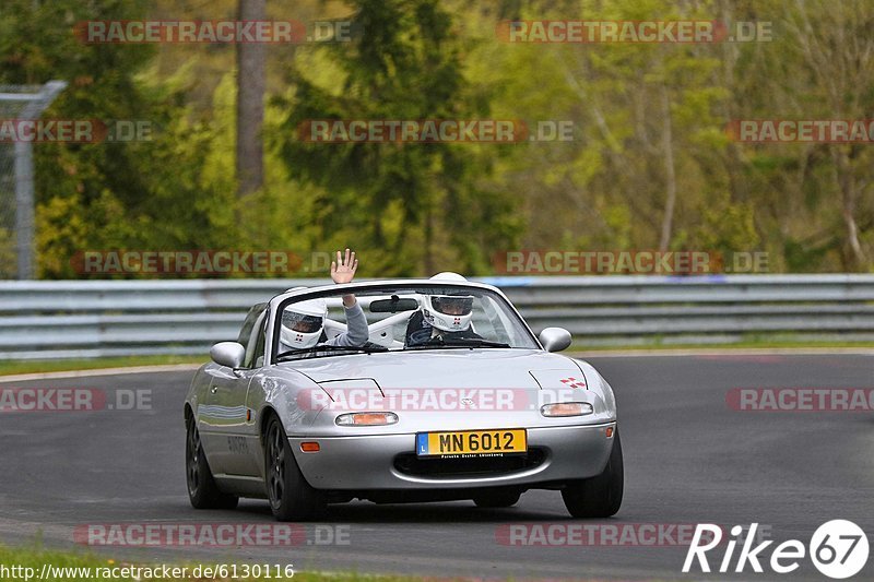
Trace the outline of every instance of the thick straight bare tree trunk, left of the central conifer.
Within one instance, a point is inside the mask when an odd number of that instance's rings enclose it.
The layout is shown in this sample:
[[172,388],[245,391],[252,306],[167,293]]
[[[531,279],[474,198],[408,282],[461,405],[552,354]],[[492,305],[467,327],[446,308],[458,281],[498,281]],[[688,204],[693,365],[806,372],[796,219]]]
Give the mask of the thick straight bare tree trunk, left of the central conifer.
[[[240,21],[265,20],[267,0],[239,0]],[[237,44],[237,195],[263,185],[264,58],[262,43]]]

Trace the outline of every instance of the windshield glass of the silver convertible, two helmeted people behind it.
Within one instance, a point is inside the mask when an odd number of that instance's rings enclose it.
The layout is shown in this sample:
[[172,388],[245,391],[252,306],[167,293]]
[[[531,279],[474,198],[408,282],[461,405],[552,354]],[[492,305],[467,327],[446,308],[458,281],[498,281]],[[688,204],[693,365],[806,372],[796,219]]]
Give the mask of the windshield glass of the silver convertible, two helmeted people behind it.
[[[363,318],[344,309],[340,292],[283,301],[274,359],[540,347],[506,299],[489,289],[413,285],[356,289],[355,296]],[[303,326],[302,321],[308,324]]]

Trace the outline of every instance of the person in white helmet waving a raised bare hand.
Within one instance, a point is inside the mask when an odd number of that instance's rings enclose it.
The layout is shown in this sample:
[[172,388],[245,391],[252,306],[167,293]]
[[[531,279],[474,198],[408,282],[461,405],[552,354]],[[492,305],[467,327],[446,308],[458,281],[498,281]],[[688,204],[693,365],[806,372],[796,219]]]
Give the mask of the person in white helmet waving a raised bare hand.
[[[336,261],[331,262],[331,278],[336,284],[352,283],[358,260],[346,249],[345,258],[336,251]],[[324,319],[328,317],[328,302],[322,299],[307,299],[292,304],[282,312],[280,329],[280,349],[306,349],[316,345],[361,346],[369,340],[367,318],[354,295],[343,296],[346,311],[346,331],[330,340],[324,334]]]

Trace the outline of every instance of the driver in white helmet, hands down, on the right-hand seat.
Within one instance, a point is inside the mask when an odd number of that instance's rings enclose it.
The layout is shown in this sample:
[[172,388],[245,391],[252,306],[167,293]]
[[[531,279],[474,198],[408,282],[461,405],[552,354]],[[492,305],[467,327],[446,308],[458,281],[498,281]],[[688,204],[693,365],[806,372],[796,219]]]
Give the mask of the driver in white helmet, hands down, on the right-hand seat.
[[[444,281],[466,281],[456,273],[440,273],[430,277]],[[442,340],[482,340],[473,331],[473,297],[458,295],[426,295],[422,307],[410,317],[406,324],[406,346],[423,345]]]

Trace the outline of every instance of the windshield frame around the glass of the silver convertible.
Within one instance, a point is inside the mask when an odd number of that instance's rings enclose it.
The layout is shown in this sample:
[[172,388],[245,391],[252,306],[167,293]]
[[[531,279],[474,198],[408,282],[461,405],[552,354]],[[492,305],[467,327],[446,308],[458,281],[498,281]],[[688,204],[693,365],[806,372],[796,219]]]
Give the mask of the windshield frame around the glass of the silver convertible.
[[[391,295],[395,290],[416,290],[422,287],[440,287],[440,288],[454,288],[458,290],[474,292],[474,295],[487,295],[489,298],[500,304],[506,308],[507,316],[519,325],[519,331],[528,337],[532,346],[525,348],[508,348],[508,349],[543,349],[538,336],[531,331],[528,322],[519,314],[516,307],[510,302],[507,296],[499,288],[488,285],[486,283],[477,282],[457,282],[457,281],[440,281],[440,280],[390,280],[390,281],[367,281],[358,283],[349,283],[345,285],[320,285],[316,287],[290,289],[283,294],[276,295],[270,300],[270,349],[267,351],[264,358],[264,366],[270,366],[276,363],[276,356],[280,349],[280,321],[282,311],[291,302],[303,301],[306,299],[329,298],[338,297],[344,293],[373,293],[380,292],[381,295]],[[489,348],[494,349],[494,348]],[[401,352],[393,349],[390,352]],[[341,354],[333,354],[341,355]],[[291,361],[283,358],[282,361]]]

